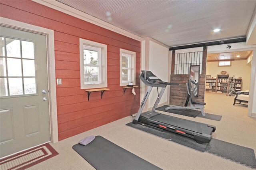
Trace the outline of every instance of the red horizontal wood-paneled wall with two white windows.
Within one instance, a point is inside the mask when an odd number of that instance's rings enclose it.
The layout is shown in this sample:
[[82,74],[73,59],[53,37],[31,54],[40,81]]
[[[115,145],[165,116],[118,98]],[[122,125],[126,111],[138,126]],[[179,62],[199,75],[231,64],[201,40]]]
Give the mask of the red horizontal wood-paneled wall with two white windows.
[[[138,110],[136,96],[119,86],[120,48],[136,52],[136,85],[140,87],[140,42],[69,16],[41,4],[25,0],[1,0],[0,16],[54,30],[58,136],[63,140],[86,130],[105,125]],[[90,94],[80,89],[79,38],[107,44],[108,88]]]

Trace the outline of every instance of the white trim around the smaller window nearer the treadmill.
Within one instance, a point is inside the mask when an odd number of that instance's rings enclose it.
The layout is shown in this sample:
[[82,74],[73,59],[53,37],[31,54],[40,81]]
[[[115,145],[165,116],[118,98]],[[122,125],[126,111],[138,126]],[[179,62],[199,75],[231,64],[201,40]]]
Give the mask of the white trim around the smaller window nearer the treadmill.
[[131,55],[131,77],[132,77],[131,81],[133,82],[133,85],[135,85],[136,84],[136,52],[120,48],[120,86],[128,85],[128,82],[122,83],[122,54],[123,53]]

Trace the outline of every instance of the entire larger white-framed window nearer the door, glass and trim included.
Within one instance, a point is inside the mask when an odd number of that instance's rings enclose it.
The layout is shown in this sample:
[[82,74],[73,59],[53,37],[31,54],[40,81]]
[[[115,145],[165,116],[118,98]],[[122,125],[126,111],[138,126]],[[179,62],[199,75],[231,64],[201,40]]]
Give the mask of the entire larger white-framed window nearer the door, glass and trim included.
[[107,45],[80,38],[81,89],[107,87]]

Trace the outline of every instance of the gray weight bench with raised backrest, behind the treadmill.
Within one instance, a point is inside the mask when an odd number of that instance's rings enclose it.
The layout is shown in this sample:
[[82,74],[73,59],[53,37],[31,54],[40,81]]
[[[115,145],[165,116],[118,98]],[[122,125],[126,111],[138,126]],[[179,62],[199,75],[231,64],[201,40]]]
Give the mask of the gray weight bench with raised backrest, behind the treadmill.
[[[192,80],[190,80],[190,82],[193,84],[196,83]],[[168,109],[200,109],[202,115],[205,116],[204,105],[206,105],[206,103],[198,102],[195,100],[194,90],[192,90],[192,86],[191,86],[190,82],[188,81],[188,83],[186,83],[188,96],[187,96],[185,105],[184,106],[169,106],[169,107],[166,107],[165,110],[168,110]],[[196,91],[196,93],[197,93],[197,91]],[[190,106],[188,106],[188,102],[190,102]]]

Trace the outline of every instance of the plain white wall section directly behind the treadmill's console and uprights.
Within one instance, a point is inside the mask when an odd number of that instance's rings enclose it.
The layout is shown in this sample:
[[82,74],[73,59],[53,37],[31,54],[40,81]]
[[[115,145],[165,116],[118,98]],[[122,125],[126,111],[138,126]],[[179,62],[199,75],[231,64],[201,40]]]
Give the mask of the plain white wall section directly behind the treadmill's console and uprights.
[[[152,71],[154,75],[160,78],[162,81],[168,81],[168,57],[169,49],[158,43],[149,42],[149,70]],[[160,93],[161,88],[158,88]],[[157,88],[153,88],[150,97],[148,98],[148,107],[153,107],[157,99]],[[167,104],[168,102],[168,90],[164,91],[164,94],[160,100],[159,105]]]

